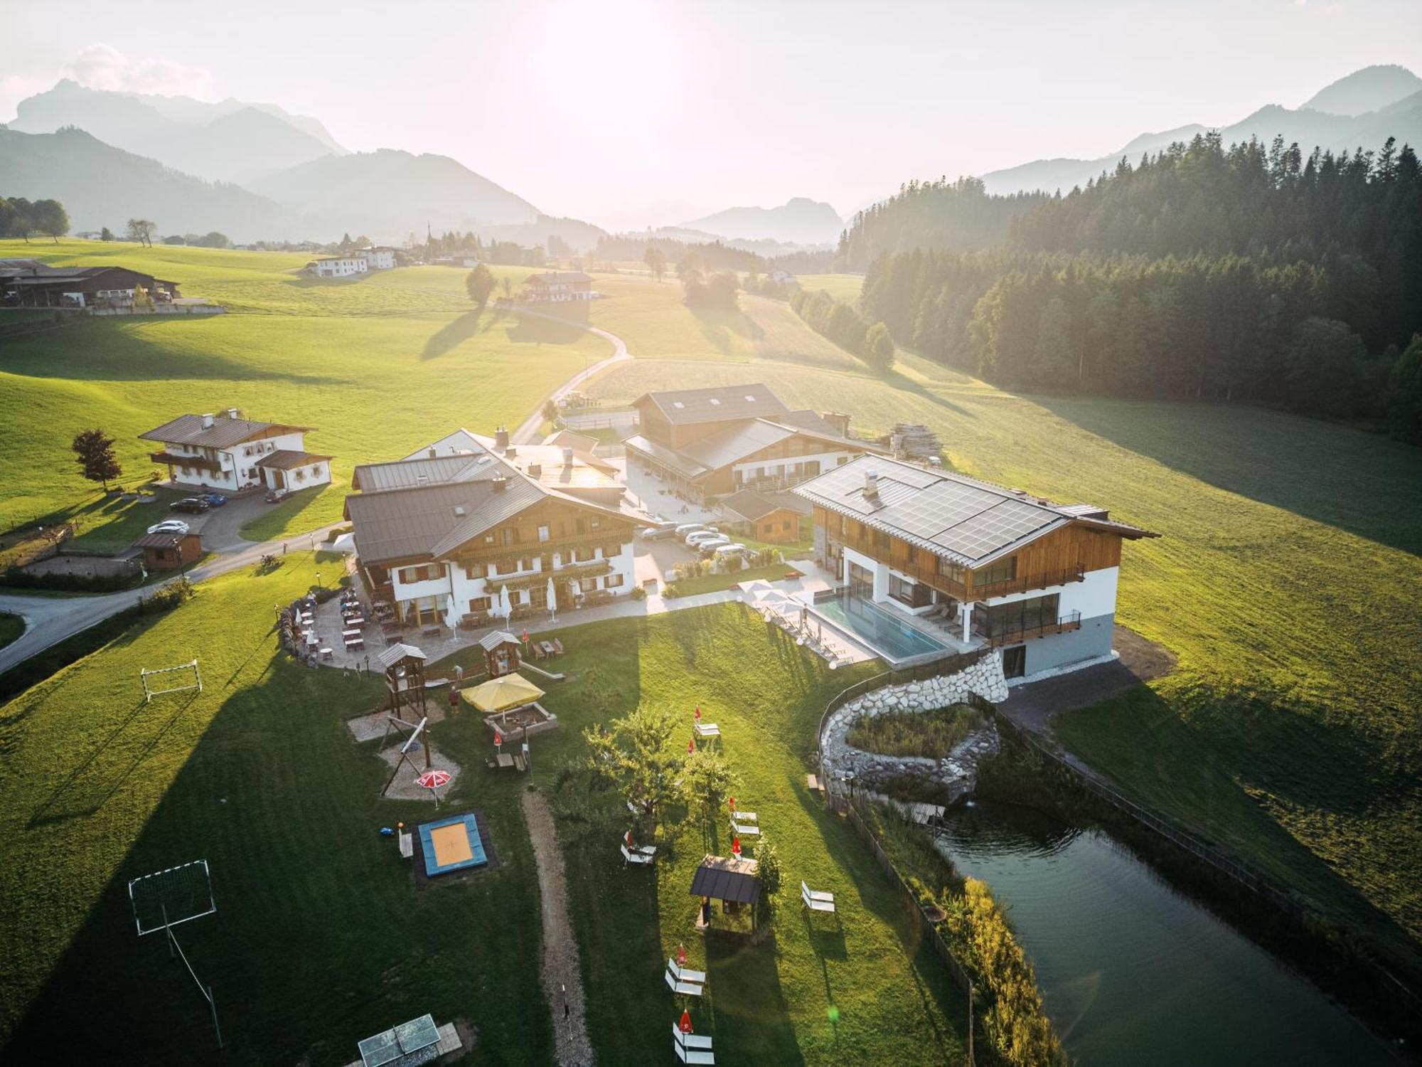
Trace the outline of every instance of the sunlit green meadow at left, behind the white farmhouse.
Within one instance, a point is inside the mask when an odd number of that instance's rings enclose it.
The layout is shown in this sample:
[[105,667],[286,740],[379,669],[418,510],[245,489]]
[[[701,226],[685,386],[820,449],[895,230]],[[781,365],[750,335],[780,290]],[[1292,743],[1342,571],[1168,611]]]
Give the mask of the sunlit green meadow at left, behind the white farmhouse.
[[[520,423],[589,359],[607,354],[606,341],[557,323],[475,316],[464,296],[468,272],[454,267],[319,280],[293,273],[304,256],[92,242],[0,242],[0,258],[31,255],[24,248],[54,262],[129,263],[232,309],[212,319],[84,320],[6,341],[0,408],[13,414],[0,421],[10,457],[0,529],[95,519],[81,546],[127,543],[142,518],[111,514],[80,478],[70,440],[81,428],[117,438],[119,481],[134,484],[155,469],[137,435],[185,411],[236,405],[314,427],[307,448],[336,457],[334,484],[255,524],[277,536],[340,518],[356,464],[405,455],[459,425]],[[109,531],[104,518],[122,522]]]

